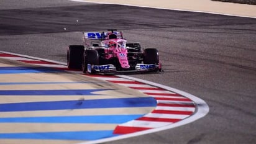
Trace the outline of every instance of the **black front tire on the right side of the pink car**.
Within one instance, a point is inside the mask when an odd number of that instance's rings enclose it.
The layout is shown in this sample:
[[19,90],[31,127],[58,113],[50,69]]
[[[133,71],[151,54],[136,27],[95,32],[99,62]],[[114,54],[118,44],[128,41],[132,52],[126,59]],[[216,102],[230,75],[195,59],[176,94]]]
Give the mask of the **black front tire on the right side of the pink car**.
[[144,50],[144,63],[158,64],[159,63],[158,50],[155,48],[146,48]]

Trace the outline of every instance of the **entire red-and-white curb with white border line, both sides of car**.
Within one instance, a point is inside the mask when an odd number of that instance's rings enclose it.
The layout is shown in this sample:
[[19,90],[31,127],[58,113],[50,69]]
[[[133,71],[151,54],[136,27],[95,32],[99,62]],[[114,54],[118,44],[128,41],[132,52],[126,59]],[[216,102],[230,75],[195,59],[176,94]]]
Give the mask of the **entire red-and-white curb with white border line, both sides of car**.
[[[33,56],[18,55],[16,53],[1,52],[0,58],[8,60],[16,60],[24,63],[30,63],[39,66],[57,68],[66,71],[65,63],[58,61],[50,61]],[[77,72],[76,72],[77,73]],[[81,73],[79,71],[79,73]],[[168,128],[185,125],[194,120],[204,117],[209,112],[209,107],[202,99],[196,96],[173,89],[162,84],[145,81],[143,79],[132,78],[125,75],[105,76],[105,75],[86,75],[93,78],[98,78],[111,83],[126,86],[131,89],[140,91],[148,96],[154,97],[157,101],[157,107],[149,114],[140,117],[139,119],[130,120],[124,124],[117,125],[114,130],[115,134],[121,134],[118,137],[105,138],[94,140],[85,143],[102,143],[122,138],[135,137],[146,133],[158,132]],[[122,135],[126,134],[126,135]]]

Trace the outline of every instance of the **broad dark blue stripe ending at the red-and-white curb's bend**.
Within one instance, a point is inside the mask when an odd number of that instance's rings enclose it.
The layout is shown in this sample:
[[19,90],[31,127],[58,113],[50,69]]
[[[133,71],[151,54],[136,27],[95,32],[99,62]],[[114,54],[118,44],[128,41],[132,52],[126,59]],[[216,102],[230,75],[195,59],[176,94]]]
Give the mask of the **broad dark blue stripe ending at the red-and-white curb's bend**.
[[0,112],[26,110],[60,110],[60,109],[96,109],[111,107],[155,107],[157,101],[153,97],[133,97],[122,99],[91,99],[77,101],[21,102],[0,104]]

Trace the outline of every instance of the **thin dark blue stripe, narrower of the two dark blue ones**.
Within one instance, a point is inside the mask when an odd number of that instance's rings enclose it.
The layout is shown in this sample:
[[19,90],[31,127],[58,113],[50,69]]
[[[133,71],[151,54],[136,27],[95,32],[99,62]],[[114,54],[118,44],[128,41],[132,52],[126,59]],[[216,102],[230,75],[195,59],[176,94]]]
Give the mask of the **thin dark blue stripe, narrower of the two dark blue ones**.
[[92,92],[110,89],[57,89],[57,90],[1,90],[0,96],[68,96],[68,95],[98,95]]

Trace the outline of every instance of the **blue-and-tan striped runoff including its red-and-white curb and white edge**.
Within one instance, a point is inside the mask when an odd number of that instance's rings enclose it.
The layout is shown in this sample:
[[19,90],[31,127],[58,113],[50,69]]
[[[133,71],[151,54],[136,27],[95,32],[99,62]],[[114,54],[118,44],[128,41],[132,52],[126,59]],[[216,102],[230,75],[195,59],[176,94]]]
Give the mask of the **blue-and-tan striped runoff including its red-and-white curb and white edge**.
[[9,52],[0,52],[0,60],[1,143],[102,143],[185,125],[209,112],[202,99],[143,79],[83,74]]

